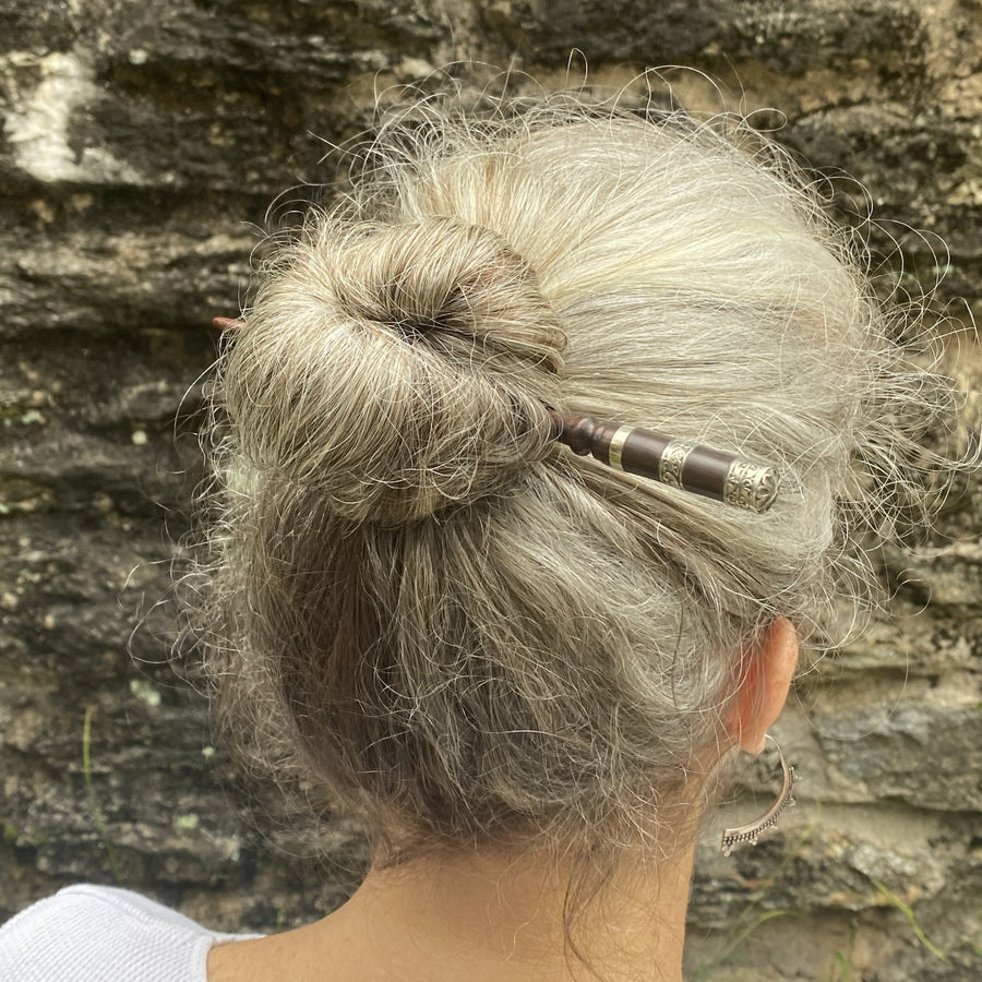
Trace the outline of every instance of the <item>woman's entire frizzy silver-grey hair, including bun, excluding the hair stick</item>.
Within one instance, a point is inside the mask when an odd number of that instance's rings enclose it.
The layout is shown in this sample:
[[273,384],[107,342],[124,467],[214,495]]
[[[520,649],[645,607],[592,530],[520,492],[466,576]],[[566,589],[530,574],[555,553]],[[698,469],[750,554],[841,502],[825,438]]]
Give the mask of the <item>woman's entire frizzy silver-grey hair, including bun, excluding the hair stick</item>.
[[[220,717],[404,854],[650,841],[758,633],[821,651],[870,608],[953,390],[740,123],[434,101],[360,163],[217,363]],[[780,495],[576,456],[548,406],[773,464]]]

